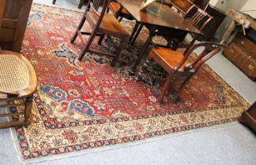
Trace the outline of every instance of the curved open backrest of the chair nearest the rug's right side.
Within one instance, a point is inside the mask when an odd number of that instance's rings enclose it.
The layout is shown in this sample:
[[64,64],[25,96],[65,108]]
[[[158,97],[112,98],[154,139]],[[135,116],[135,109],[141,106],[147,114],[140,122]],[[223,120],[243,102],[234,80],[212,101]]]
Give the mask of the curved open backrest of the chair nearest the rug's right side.
[[205,63],[205,61],[208,61],[209,58],[220,52],[220,49],[222,49],[223,46],[224,45],[222,44],[214,42],[200,42],[190,46],[190,48],[186,51],[183,60],[175,67],[175,71],[178,71],[179,68],[183,66],[186,61],[188,61],[188,58],[192,55],[192,53],[194,53],[195,49],[202,49],[201,53],[198,54],[198,57],[195,57],[194,61],[190,61],[189,64],[186,64],[184,68],[184,72],[197,72],[198,68],[201,67],[201,64]]

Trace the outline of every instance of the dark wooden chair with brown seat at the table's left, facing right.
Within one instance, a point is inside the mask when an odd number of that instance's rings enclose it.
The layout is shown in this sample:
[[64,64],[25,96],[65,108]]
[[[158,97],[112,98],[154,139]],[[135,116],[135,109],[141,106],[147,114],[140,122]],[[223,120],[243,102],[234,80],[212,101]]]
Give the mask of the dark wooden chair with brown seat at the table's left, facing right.
[[[77,27],[77,31],[74,33],[73,38],[71,39],[71,43],[75,41],[77,36],[81,38],[82,43],[85,45],[85,48],[83,49],[80,57],[78,58],[79,61],[83,59],[85,56],[85,53],[96,53],[104,56],[111,56],[114,57],[111,66],[114,66],[116,61],[118,61],[119,55],[126,45],[126,42],[129,39],[129,34],[127,31],[121,26],[119,21],[115,18],[114,15],[110,13],[105,13],[107,9],[107,5],[109,0],[104,1],[104,6],[101,9],[101,12],[99,13],[97,10],[99,9],[100,2],[104,0],[89,0],[88,1],[88,6],[85,9],[84,16],[81,19],[81,22],[79,26]],[[88,24],[92,27],[92,32],[86,32],[86,31],[81,31],[81,28],[85,24],[85,20],[88,20]],[[85,43],[82,35],[90,35],[88,38],[88,41]],[[98,44],[100,45],[103,38],[102,36],[104,35],[111,35],[115,38],[120,38],[121,42],[119,45],[119,48],[117,49],[115,54],[110,54],[110,53],[103,53],[100,51],[96,51],[93,49],[90,49],[90,46],[92,44],[93,39],[95,38],[96,35],[101,36]]]

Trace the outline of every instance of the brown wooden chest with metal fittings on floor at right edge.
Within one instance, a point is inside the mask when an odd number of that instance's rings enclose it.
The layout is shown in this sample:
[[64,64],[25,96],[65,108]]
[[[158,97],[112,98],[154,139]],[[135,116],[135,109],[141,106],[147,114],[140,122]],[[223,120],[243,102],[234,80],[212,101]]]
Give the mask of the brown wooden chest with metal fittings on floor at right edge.
[[238,34],[225,46],[223,54],[250,79],[256,81],[256,45],[254,42]]

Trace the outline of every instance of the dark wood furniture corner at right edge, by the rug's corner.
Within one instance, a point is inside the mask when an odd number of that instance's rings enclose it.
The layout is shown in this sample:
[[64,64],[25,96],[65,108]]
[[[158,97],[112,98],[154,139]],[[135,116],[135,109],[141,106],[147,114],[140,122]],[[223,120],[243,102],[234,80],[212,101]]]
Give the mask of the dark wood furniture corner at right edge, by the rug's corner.
[[256,134],[256,102],[254,102],[247,111],[243,112],[239,121],[250,127]]

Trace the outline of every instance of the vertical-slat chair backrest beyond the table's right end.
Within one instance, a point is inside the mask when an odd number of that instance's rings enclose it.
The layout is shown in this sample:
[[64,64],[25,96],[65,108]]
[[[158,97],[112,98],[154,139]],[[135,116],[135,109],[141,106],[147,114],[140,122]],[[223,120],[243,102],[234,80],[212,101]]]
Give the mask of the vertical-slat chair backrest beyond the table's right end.
[[191,6],[184,15],[186,20],[189,20],[190,24],[197,27],[200,31],[204,30],[205,26],[213,20],[213,16],[200,9],[198,6]]

